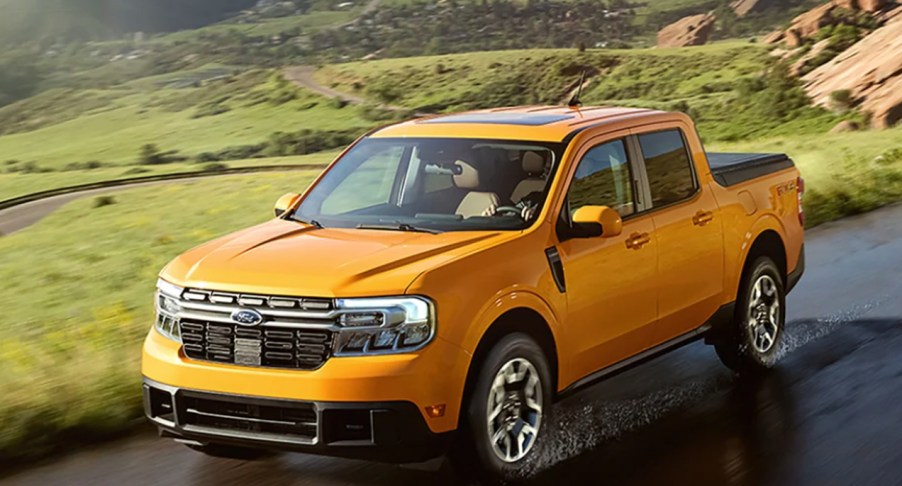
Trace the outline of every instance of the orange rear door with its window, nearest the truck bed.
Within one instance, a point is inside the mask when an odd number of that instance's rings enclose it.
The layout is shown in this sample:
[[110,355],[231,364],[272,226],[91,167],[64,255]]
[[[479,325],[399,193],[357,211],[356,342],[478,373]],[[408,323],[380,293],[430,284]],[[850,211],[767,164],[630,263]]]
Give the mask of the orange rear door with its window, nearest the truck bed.
[[673,122],[633,130],[658,244],[659,343],[703,324],[718,309],[723,292],[720,210],[699,181],[693,153],[701,157],[703,152],[700,145],[689,146],[687,129]]

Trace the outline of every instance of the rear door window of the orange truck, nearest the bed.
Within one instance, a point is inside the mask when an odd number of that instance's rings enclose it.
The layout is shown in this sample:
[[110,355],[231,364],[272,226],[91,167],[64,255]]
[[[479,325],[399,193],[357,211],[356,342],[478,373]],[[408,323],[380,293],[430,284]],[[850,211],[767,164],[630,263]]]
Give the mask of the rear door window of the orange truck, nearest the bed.
[[696,191],[692,159],[679,130],[639,135],[652,207],[682,201]]

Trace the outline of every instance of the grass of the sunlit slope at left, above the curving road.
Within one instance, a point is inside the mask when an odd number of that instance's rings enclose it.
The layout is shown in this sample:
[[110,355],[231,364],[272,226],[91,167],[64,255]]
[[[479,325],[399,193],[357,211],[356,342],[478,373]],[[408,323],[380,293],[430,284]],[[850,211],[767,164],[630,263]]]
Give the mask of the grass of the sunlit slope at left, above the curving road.
[[[113,99],[103,106],[59,123],[0,137],[0,164],[13,159],[35,161],[52,170],[87,161],[124,166],[133,164],[140,147],[148,143],[193,156],[260,143],[277,131],[353,127],[363,131],[373,125],[355,107],[338,108],[327,98],[276,86],[265,76],[260,84],[242,85],[245,81],[239,79],[233,82],[235,85],[223,81],[199,88],[146,89],[156,81],[159,80],[105,90]],[[208,96],[209,93],[216,96]],[[274,102],[262,98],[281,93],[289,93],[293,99]],[[221,98],[228,99],[220,102]],[[224,105],[229,111],[198,116],[205,104]],[[33,101],[26,100],[7,109],[20,109],[30,117],[27,120],[40,119],[43,112],[34,110],[33,105]]]

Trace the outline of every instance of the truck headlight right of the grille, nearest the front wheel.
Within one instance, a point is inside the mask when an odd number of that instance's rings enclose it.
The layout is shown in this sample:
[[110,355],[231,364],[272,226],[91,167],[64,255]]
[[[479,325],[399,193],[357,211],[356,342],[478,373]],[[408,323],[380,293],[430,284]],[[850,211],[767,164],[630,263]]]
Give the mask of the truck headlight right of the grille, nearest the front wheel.
[[404,353],[435,336],[435,309],[424,297],[338,299],[336,356]]

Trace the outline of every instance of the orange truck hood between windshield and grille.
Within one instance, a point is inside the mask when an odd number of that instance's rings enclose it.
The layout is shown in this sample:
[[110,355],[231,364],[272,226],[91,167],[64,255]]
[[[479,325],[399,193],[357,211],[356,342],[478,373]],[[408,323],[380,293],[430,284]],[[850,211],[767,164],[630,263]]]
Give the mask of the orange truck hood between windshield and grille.
[[161,276],[185,287],[228,292],[397,295],[429,268],[517,234],[318,229],[277,219],[189,250]]

